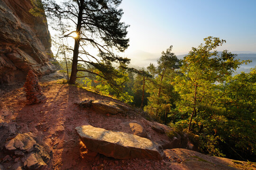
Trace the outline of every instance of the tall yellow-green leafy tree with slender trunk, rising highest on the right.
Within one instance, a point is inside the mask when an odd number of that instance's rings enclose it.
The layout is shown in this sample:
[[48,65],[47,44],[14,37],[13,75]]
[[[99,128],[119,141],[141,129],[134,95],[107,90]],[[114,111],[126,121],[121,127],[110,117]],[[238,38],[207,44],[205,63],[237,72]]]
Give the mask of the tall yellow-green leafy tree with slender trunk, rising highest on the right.
[[188,130],[191,130],[193,117],[198,114],[204,117],[204,114],[219,109],[214,105],[215,99],[218,98],[216,83],[222,83],[243,63],[228,51],[221,54],[213,51],[224,42],[226,41],[219,38],[207,37],[204,44],[198,48],[193,47],[182,60],[180,71],[183,76],[175,78],[175,88],[182,98],[178,102],[180,110],[183,113],[191,113]]

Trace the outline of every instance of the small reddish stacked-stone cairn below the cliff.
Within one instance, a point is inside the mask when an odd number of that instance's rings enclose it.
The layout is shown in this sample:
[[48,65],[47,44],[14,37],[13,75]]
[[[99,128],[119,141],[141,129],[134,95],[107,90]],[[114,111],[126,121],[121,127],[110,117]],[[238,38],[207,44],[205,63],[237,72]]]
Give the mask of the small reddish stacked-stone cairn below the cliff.
[[38,84],[37,75],[29,70],[25,82],[25,92],[27,98],[27,104],[35,104],[46,102],[46,96],[41,92],[41,86]]

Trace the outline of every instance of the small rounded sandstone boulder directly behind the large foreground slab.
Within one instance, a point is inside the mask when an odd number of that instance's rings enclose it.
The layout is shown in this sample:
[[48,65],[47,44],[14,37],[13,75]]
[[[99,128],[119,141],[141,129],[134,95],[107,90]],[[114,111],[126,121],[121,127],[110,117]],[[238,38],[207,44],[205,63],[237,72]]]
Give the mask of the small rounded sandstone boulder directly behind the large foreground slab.
[[123,122],[120,123],[120,128],[122,132],[126,132],[129,134],[137,135],[140,137],[147,138],[147,132],[142,125],[137,122]]

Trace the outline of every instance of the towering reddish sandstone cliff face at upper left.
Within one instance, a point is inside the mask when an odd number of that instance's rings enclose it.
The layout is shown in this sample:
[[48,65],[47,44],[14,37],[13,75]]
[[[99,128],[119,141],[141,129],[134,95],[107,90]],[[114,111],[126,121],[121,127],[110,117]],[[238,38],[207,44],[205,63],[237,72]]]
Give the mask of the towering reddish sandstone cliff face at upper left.
[[0,0],[0,85],[25,80],[30,69],[38,76],[55,71],[47,23],[30,8],[30,0]]

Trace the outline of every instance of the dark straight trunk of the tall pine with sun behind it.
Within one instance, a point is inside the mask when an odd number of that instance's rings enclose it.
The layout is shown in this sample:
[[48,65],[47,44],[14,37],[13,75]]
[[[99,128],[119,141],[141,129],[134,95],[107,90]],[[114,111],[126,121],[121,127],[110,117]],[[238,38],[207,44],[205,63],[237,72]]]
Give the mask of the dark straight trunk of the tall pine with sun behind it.
[[77,26],[76,26],[76,34],[78,35],[75,38],[74,49],[73,49],[73,60],[72,60],[72,69],[71,75],[68,84],[74,85],[77,74],[77,63],[78,63],[78,54],[79,54],[79,46],[80,46],[80,31],[82,26],[82,9],[83,9],[84,0],[80,0],[79,13],[77,17]]

